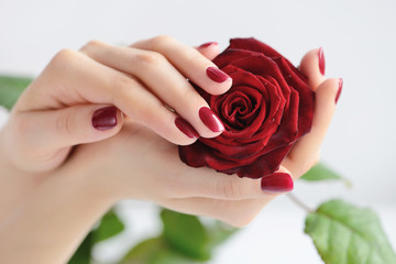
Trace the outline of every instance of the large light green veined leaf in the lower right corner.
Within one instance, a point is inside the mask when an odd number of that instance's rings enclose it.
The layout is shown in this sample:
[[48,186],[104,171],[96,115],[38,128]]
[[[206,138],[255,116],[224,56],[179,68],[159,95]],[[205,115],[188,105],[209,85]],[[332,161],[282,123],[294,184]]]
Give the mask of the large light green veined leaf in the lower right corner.
[[330,200],[307,216],[305,232],[327,264],[396,263],[380,220],[371,209]]

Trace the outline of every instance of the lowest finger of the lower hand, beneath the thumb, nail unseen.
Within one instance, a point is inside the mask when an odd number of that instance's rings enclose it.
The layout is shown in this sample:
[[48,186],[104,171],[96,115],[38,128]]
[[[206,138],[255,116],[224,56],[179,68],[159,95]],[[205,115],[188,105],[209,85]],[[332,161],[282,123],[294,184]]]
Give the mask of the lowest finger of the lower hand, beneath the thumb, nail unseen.
[[188,215],[219,219],[234,227],[251,223],[272,198],[252,200],[218,200],[208,198],[170,199],[160,201],[166,208]]

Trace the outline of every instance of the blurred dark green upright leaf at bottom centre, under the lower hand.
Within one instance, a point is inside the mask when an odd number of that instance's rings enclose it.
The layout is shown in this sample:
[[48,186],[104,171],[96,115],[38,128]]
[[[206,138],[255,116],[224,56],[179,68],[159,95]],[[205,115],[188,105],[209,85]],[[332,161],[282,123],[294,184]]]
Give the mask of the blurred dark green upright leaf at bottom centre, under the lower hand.
[[161,219],[164,238],[170,248],[200,261],[210,258],[210,249],[207,246],[209,238],[197,217],[164,209]]

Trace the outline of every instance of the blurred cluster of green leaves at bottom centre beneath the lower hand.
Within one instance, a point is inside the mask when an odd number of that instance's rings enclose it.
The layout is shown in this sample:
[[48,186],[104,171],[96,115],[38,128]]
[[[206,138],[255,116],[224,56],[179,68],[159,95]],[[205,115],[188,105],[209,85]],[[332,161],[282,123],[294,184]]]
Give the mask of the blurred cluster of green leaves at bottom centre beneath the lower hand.
[[204,224],[199,218],[162,209],[163,233],[132,249],[122,263],[202,263],[238,229],[220,221]]

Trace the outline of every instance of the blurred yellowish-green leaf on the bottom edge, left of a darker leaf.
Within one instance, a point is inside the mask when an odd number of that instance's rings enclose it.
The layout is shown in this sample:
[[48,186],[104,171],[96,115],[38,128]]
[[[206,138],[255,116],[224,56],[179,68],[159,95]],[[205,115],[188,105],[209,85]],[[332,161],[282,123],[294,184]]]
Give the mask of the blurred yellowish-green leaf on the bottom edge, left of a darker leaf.
[[164,237],[145,240],[134,246],[120,264],[190,264],[196,263],[169,248]]

